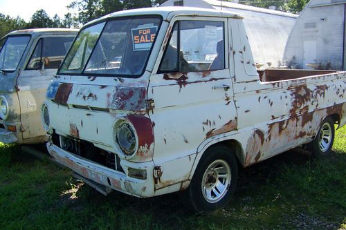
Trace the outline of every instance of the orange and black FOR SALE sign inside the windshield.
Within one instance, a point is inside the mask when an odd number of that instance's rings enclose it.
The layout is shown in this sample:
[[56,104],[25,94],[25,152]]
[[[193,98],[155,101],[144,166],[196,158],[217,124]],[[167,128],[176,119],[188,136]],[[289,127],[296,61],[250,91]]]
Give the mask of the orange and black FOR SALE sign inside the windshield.
[[134,44],[134,51],[137,50],[150,50],[154,42],[157,26],[147,28],[132,29],[132,43]]

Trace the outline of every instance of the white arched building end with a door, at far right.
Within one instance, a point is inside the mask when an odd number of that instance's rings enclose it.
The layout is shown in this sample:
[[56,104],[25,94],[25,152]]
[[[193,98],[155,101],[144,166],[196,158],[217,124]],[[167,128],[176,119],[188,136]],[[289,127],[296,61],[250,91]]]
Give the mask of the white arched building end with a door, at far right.
[[346,70],[345,4],[311,0],[289,36],[284,61],[293,68]]

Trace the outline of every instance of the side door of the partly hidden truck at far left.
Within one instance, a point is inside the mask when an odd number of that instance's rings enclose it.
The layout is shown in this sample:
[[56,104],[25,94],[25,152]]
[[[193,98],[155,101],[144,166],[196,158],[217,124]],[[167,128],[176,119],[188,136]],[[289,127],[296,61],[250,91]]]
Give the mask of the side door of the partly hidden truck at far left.
[[18,80],[18,97],[21,107],[23,139],[45,135],[41,123],[41,106],[46,88],[71,46],[73,37],[42,37],[21,71]]

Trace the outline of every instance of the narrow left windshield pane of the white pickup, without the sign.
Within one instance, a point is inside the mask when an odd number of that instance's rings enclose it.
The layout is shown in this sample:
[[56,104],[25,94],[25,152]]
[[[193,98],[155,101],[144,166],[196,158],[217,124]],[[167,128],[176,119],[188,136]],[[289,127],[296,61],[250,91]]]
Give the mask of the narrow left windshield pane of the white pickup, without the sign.
[[104,26],[103,23],[96,24],[81,30],[75,39],[73,46],[62,64],[60,73],[82,73],[86,61],[88,61],[96,41]]

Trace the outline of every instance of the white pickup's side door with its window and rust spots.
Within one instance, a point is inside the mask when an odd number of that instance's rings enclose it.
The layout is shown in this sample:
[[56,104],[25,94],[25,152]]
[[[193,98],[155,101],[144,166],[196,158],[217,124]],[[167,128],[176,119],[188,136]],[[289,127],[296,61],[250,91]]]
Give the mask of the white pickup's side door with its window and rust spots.
[[237,128],[226,24],[203,17],[171,22],[148,90],[154,100],[149,115],[155,124],[155,164],[196,153],[202,142]]

